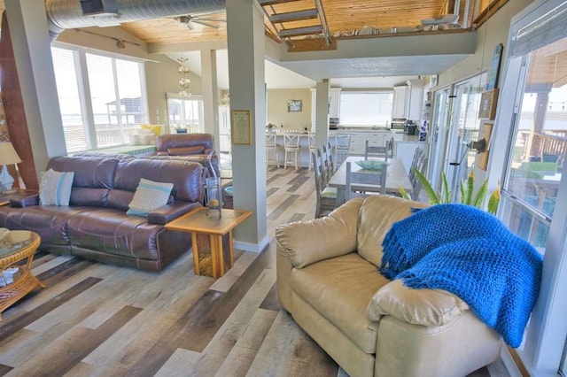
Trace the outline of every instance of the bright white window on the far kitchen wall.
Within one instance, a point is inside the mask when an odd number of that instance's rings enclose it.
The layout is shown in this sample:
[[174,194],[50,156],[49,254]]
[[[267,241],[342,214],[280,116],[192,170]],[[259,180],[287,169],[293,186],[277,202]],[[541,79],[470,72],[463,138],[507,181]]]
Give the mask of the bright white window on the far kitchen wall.
[[392,92],[340,93],[340,124],[386,127],[392,119]]

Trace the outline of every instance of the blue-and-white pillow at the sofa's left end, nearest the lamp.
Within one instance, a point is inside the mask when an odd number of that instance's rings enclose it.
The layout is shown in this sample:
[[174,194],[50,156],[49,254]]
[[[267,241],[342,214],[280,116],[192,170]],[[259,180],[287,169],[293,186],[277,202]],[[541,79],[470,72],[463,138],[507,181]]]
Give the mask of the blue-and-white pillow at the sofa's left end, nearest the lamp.
[[74,172],[57,172],[53,169],[43,173],[39,187],[41,205],[69,205]]

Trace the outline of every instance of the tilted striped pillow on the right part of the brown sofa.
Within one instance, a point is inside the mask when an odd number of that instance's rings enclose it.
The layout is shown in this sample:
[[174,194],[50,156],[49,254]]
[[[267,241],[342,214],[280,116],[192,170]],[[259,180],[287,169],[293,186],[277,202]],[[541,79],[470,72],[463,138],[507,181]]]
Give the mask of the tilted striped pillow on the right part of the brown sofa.
[[154,182],[141,178],[134,197],[128,204],[129,209],[126,214],[148,216],[151,211],[167,204],[173,188],[173,183]]

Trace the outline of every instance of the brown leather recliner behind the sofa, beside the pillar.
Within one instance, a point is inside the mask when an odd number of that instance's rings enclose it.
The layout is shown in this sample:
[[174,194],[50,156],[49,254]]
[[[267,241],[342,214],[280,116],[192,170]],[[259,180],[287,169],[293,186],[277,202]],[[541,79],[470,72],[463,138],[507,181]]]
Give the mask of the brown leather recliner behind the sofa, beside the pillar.
[[[214,138],[211,134],[172,134],[156,138],[156,154],[151,158],[183,159],[208,166],[207,156],[214,152]],[[219,157],[211,158],[214,173],[221,176]],[[209,172],[213,175],[213,172]]]

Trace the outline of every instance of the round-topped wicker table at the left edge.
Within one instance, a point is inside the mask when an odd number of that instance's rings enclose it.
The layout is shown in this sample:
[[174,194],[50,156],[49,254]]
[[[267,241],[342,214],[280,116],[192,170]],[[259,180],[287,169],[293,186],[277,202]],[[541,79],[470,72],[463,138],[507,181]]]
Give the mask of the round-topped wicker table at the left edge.
[[[12,230],[0,240],[0,272],[9,267],[19,268],[12,284],[0,288],[0,320],[1,313],[7,307],[26,296],[32,289],[37,286],[45,288],[45,284],[31,273],[35,250],[41,241],[39,235],[28,230]],[[26,258],[25,265],[18,264]]]

